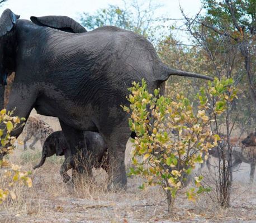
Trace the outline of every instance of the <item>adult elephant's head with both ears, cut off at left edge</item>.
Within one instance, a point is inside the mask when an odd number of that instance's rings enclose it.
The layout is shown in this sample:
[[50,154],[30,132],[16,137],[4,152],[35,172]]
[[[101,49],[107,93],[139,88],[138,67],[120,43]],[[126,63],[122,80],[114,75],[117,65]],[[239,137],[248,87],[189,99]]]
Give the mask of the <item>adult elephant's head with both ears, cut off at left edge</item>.
[[[20,16],[10,9],[5,9],[0,17],[0,109],[3,108],[4,104],[4,85],[7,84],[7,77],[16,68],[16,23],[18,18]],[[51,27],[65,32],[87,32],[78,22],[67,16],[32,16],[31,21],[39,26]]]

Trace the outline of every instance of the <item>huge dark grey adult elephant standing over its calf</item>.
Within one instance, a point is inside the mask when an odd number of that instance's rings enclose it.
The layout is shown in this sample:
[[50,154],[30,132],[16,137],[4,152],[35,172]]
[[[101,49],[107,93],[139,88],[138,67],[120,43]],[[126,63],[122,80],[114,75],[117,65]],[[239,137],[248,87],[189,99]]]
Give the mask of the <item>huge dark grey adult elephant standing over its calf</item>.
[[[31,17],[31,22],[18,20],[10,9],[3,12],[2,83],[6,73],[16,72],[7,109],[16,108],[15,114],[25,118],[32,108],[58,117],[73,156],[81,148],[87,151],[83,131],[99,132],[112,168],[108,188],[124,188],[125,145],[131,131],[120,105],[128,105],[132,81],[144,78],[153,92],[170,75],[211,78],[169,68],[151,43],[134,32],[112,26],[85,32],[70,20],[46,16]],[[14,134],[21,132],[19,128]],[[83,171],[80,164],[75,168]]]

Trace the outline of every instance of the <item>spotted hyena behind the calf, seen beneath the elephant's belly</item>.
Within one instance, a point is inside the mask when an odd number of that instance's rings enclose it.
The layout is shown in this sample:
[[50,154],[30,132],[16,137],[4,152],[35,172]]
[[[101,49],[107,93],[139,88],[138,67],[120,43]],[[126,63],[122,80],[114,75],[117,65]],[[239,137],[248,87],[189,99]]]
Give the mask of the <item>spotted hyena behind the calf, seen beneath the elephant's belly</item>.
[[48,125],[44,121],[30,116],[29,119],[27,119],[24,132],[24,149],[26,150],[27,140],[29,140],[32,136],[34,137],[34,141],[30,144],[30,149],[34,149],[34,146],[38,140],[40,140],[41,146],[44,146],[46,138],[51,133],[53,133],[54,130],[50,127],[50,125]]

